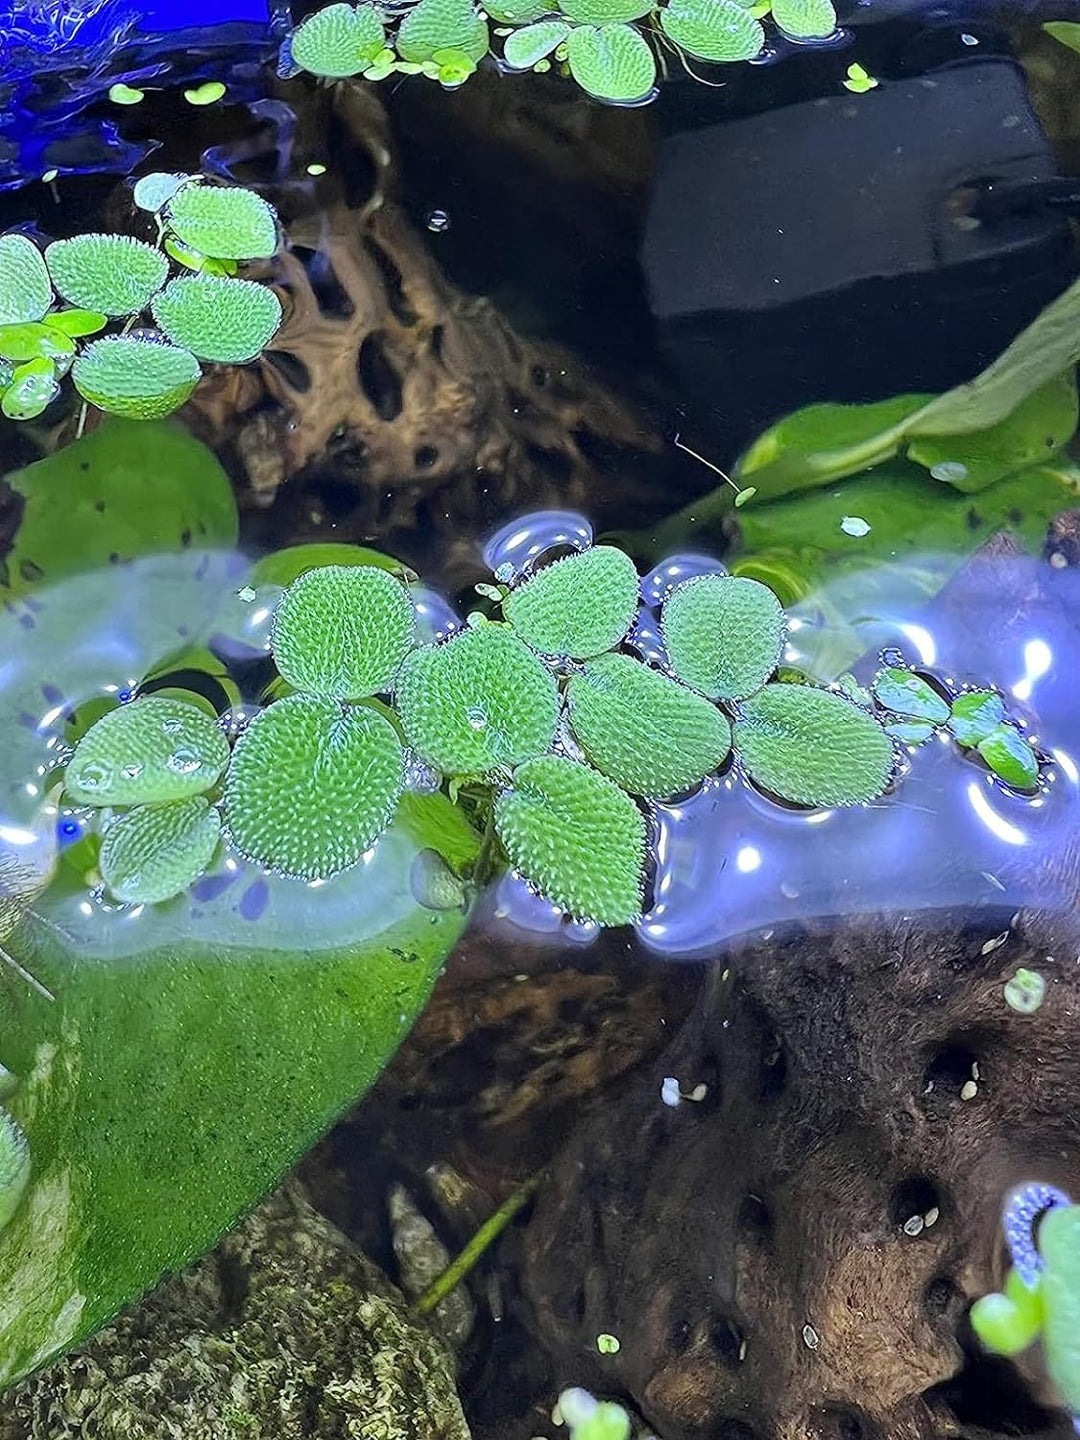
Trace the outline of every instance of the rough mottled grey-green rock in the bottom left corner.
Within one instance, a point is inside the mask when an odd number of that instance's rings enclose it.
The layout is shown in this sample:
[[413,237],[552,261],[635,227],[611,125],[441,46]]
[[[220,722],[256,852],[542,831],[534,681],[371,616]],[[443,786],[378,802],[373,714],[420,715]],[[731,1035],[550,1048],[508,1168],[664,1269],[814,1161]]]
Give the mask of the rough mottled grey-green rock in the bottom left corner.
[[469,1440],[454,1364],[298,1185],[0,1401],[0,1440]]

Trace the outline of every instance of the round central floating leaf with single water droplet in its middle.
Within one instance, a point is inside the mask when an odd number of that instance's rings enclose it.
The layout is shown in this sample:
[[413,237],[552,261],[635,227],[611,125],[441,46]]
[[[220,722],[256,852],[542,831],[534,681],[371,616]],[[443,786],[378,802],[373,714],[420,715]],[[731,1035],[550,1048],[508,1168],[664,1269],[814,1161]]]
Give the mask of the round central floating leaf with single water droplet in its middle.
[[416,753],[448,775],[484,775],[550,749],[554,680],[505,625],[425,645],[402,667],[397,710]]

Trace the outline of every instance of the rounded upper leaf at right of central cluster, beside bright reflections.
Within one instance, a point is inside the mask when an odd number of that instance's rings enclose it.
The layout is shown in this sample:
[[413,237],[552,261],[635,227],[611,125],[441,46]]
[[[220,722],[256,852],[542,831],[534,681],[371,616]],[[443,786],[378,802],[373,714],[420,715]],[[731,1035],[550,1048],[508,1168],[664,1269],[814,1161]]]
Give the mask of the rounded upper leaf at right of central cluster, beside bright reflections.
[[710,700],[742,700],[776,670],[783,611],[757,580],[701,575],[664,603],[664,644],[680,680]]

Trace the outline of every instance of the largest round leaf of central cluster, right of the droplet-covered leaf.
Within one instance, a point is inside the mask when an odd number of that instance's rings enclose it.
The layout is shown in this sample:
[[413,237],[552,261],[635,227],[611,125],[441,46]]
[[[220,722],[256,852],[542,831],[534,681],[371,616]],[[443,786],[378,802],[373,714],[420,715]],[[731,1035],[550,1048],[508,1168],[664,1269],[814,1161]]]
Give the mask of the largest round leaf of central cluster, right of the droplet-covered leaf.
[[402,743],[377,711],[288,696],[236,742],[225,780],[229,840],[265,870],[328,880],[390,824],[403,773]]

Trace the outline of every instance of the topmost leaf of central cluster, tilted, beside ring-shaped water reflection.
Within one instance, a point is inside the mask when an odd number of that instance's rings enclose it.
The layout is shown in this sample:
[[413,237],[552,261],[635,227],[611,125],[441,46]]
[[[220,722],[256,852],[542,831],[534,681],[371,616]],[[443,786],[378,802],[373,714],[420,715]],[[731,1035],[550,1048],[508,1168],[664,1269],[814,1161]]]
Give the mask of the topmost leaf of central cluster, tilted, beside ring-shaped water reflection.
[[539,570],[503,611],[541,655],[589,660],[618,645],[638,608],[638,572],[622,550],[593,546]]

